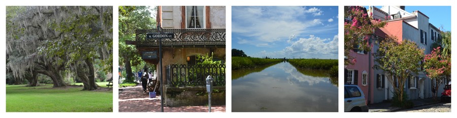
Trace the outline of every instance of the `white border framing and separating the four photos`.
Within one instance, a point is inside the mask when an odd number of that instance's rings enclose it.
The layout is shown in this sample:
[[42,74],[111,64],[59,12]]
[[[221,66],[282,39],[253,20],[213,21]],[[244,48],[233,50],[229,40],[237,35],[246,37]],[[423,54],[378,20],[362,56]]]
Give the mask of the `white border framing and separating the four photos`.
[[[339,18],[344,17],[344,6],[367,6],[367,5],[403,5],[403,6],[451,6],[451,19],[455,19],[455,13],[457,11],[452,9],[456,4],[453,1],[447,0],[436,0],[436,1],[426,1],[426,0],[378,0],[378,1],[367,1],[367,0],[281,0],[281,1],[255,1],[255,0],[219,0],[219,1],[204,1],[204,0],[195,0],[195,1],[186,1],[186,0],[138,0],[138,1],[121,1],[121,0],[81,0],[81,1],[32,1],[32,0],[16,0],[16,1],[2,1],[0,2],[0,39],[5,43],[6,37],[6,6],[113,6],[113,72],[117,72],[118,66],[118,6],[189,6],[189,5],[204,5],[204,6],[226,6],[226,56],[231,57],[232,49],[232,6],[339,6]],[[452,22],[453,20],[451,20]],[[344,54],[343,54],[343,40],[344,35],[343,20],[339,20],[339,76],[344,76],[343,67],[344,67]],[[451,23],[451,29],[455,29],[455,24]],[[454,36],[455,37],[455,34]],[[1,55],[1,74],[0,80],[5,82],[6,75],[6,52],[5,45],[0,46],[2,51]],[[455,46],[454,46],[455,48]],[[455,50],[455,49],[454,49]],[[452,59],[455,60],[456,56],[452,54]],[[343,89],[344,86],[343,79],[340,77],[339,81],[339,112],[232,112],[232,81],[229,78],[232,78],[232,66],[231,58],[226,58],[226,112],[219,113],[206,113],[206,112],[118,112],[118,87],[113,86],[113,112],[6,112],[6,90],[5,83],[0,84],[0,116],[2,117],[439,117],[439,116],[456,116],[455,108],[451,108],[452,112],[417,112],[417,113],[345,113],[343,112],[344,103],[343,103]],[[453,63],[453,62],[452,62]],[[452,67],[454,68],[454,66]],[[455,73],[456,69],[452,69],[452,73]],[[455,78],[455,75],[451,75],[452,78]],[[113,82],[117,83],[117,76],[114,76]],[[453,97],[452,101],[455,101],[457,98]]]

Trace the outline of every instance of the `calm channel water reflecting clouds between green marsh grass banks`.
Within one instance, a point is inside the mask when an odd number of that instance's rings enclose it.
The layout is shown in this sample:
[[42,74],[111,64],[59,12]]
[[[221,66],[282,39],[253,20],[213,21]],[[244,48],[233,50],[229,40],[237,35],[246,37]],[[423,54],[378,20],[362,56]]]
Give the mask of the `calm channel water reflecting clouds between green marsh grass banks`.
[[[233,71],[232,111],[338,112],[338,78],[328,71],[297,70],[288,62],[263,70]],[[237,72],[243,73],[242,75]]]

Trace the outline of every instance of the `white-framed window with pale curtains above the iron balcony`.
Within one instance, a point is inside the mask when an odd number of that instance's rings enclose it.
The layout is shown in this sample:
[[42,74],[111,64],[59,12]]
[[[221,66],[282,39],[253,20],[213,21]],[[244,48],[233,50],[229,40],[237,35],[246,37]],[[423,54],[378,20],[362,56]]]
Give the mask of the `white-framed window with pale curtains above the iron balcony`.
[[204,6],[186,6],[186,28],[205,28]]

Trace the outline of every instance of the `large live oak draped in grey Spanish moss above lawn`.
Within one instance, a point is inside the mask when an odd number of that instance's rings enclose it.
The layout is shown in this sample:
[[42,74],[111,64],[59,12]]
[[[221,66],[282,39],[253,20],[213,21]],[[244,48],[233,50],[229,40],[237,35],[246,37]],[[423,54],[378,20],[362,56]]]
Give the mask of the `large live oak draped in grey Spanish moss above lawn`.
[[[24,9],[11,23],[19,33],[7,33],[7,55],[16,57],[7,64],[13,73],[21,76],[26,70],[35,71],[61,87],[66,83],[60,71],[69,69],[82,80],[83,90],[97,89],[94,60],[102,60],[105,71],[112,70],[112,7]],[[14,55],[15,51],[19,53]]]

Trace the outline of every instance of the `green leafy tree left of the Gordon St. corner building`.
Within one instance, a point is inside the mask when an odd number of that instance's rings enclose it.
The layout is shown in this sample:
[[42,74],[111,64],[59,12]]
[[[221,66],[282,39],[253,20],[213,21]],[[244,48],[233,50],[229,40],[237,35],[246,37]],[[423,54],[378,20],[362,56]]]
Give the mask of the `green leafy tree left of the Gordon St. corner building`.
[[156,22],[146,6],[119,6],[119,65],[124,65],[127,82],[134,81],[132,66],[142,63],[141,55],[134,45],[125,44],[135,41],[136,29],[152,29]]

